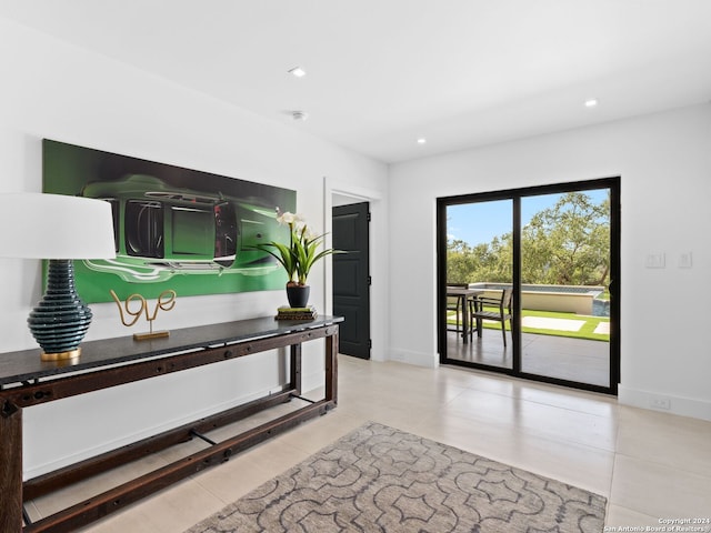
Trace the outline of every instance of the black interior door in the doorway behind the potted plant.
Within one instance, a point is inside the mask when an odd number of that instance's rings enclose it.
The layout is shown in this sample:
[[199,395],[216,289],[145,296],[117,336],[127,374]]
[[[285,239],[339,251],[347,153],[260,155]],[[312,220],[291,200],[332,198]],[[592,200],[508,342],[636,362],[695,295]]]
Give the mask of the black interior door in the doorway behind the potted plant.
[[368,202],[333,208],[333,313],[343,316],[339,352],[370,359]]

